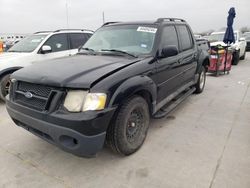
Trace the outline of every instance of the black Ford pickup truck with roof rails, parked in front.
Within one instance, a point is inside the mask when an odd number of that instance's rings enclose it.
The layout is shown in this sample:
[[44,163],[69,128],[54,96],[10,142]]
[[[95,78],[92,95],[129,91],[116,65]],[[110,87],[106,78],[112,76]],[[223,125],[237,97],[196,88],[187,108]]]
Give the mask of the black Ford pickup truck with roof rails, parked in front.
[[18,126],[75,155],[105,141],[130,155],[151,117],[203,91],[208,64],[182,19],[106,23],[77,55],[15,72],[6,106]]

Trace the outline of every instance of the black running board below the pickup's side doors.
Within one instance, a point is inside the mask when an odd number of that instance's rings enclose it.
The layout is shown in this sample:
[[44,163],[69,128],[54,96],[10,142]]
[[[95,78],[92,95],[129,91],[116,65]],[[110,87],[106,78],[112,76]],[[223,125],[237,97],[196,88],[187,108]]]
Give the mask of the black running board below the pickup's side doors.
[[160,118],[165,117],[168,113],[173,111],[181,102],[183,102],[188,96],[192,95],[194,91],[195,91],[195,88],[193,87],[183,92],[182,94],[178,95],[177,98],[174,98],[164,107],[162,107],[158,112],[156,112],[156,114],[153,115],[153,118],[160,119]]

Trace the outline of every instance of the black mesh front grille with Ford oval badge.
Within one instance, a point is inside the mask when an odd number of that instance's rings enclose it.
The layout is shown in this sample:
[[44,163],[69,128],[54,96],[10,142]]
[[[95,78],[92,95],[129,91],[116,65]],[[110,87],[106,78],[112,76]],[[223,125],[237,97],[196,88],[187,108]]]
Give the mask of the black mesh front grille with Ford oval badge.
[[55,94],[56,88],[53,87],[18,82],[14,90],[14,101],[23,106],[45,111],[49,108],[48,104]]

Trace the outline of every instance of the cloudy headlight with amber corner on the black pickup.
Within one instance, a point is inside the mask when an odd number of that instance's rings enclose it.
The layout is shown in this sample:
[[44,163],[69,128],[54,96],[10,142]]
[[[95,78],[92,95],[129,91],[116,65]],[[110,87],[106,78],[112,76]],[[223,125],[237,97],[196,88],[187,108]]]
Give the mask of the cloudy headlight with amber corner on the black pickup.
[[107,95],[105,93],[88,93],[87,91],[69,91],[64,107],[70,112],[103,110]]

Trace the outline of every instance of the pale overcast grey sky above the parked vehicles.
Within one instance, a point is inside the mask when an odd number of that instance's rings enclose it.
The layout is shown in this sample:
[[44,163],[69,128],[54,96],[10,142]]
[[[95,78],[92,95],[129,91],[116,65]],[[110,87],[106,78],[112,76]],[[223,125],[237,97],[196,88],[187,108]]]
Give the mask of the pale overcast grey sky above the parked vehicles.
[[230,7],[236,9],[234,29],[250,27],[250,0],[0,0],[0,33],[96,30],[103,12],[105,21],[183,18],[194,32],[203,32],[226,27]]

